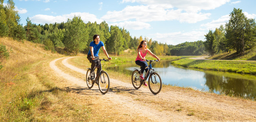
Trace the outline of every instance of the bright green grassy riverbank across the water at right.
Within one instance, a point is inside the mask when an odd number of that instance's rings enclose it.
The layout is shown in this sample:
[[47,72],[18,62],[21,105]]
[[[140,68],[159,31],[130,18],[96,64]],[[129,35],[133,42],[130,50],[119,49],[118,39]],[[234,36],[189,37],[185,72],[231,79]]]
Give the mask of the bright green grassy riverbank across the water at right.
[[256,61],[196,60],[185,58],[172,61],[172,64],[185,68],[256,74]]

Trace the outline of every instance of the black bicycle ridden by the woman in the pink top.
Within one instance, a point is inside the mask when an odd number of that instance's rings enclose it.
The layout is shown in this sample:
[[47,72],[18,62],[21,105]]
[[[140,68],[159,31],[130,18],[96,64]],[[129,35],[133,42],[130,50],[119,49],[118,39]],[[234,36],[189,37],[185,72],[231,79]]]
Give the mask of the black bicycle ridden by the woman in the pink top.
[[141,85],[144,84],[146,82],[146,79],[148,78],[148,87],[150,91],[153,94],[158,94],[162,89],[162,80],[159,74],[157,74],[157,72],[155,72],[154,69],[152,69],[154,65],[151,65],[151,63],[154,61],[156,62],[160,62],[160,61],[158,60],[146,60],[146,61],[149,62],[149,66],[146,68],[149,68],[149,69],[148,69],[148,72],[146,72],[145,78],[144,79],[139,78],[141,74],[141,70],[135,69],[132,72],[132,85],[133,87],[135,87],[135,89],[139,89]]

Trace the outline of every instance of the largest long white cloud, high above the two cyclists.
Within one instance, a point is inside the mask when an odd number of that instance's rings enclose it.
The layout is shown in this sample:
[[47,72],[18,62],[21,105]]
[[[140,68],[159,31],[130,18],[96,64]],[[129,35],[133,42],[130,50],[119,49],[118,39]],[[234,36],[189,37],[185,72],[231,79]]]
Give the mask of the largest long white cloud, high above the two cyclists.
[[136,20],[139,22],[178,20],[196,23],[208,19],[210,13],[185,13],[182,9],[168,10],[157,5],[127,6],[121,11],[108,11],[101,19],[108,22]]

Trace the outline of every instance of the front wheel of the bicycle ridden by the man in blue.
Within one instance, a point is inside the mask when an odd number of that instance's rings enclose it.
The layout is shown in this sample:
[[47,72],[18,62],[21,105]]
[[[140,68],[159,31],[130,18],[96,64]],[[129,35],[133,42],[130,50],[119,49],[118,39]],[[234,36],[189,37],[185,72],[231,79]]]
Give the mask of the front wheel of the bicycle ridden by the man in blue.
[[102,71],[98,80],[99,80],[99,91],[102,94],[108,93],[108,90],[110,87],[110,80],[109,80],[108,73],[105,71]]

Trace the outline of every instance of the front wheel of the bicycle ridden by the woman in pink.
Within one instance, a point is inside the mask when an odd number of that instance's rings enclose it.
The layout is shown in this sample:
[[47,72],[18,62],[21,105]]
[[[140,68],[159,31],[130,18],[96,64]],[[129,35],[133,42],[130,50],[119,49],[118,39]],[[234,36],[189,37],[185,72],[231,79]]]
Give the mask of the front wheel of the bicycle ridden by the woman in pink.
[[153,94],[158,94],[161,91],[162,80],[157,72],[150,74],[148,79],[148,87]]

